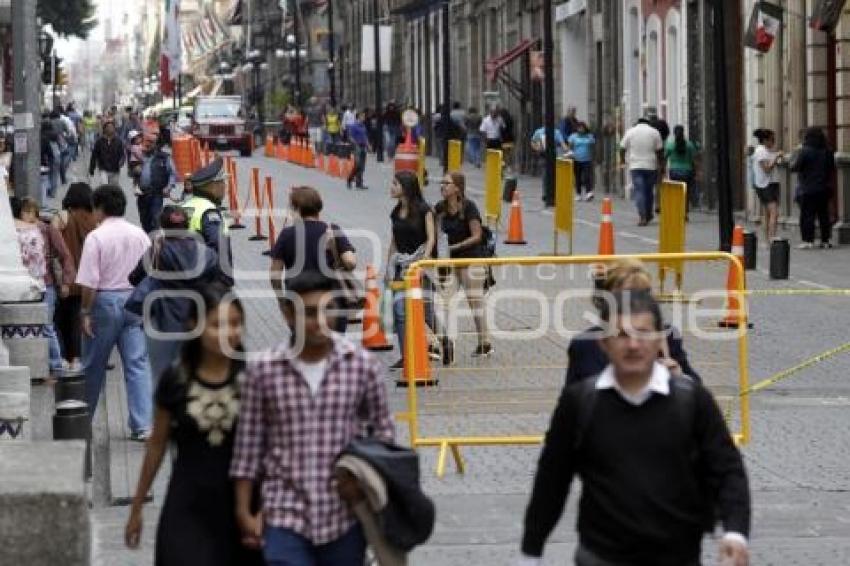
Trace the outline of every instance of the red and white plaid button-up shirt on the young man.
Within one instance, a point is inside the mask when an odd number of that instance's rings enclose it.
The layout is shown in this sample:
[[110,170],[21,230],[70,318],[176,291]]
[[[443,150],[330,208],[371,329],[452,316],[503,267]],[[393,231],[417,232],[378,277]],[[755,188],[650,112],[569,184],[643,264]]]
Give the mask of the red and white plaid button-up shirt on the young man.
[[355,521],[337,494],[334,461],[367,425],[392,440],[393,424],[384,373],[371,354],[335,338],[315,397],[293,356],[281,345],[248,364],[230,475],[262,478],[267,525],[325,544]]

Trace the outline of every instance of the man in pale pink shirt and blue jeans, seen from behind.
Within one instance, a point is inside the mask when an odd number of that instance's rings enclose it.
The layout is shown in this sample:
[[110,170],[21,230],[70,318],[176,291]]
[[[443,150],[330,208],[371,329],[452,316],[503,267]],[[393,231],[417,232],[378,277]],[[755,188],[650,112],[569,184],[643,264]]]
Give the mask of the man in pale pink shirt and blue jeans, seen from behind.
[[151,243],[138,226],[124,220],[127,199],[120,187],[99,187],[92,195],[92,206],[100,225],[86,236],[77,271],[82,289],[86,402],[94,416],[109,354],[118,346],[127,383],[130,439],[144,441],[151,430],[150,364],[142,318],[124,310],[124,303],[132,292],[130,273]]

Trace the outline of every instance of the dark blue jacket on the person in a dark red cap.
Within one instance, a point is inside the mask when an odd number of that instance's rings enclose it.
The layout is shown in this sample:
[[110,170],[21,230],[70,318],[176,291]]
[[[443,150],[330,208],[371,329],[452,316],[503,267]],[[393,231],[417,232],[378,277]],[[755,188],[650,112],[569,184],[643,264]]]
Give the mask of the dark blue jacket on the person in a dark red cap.
[[[155,267],[148,275],[145,264]],[[203,266],[200,274],[188,279],[167,279],[157,276],[157,272],[177,272],[195,274]],[[191,290],[208,285],[221,277],[218,254],[209,246],[194,238],[163,238],[155,243],[139,261],[139,265],[130,274],[130,284],[135,287],[125,308],[140,316],[144,313],[145,298],[154,291]],[[160,332],[179,332],[185,330],[192,299],[185,296],[163,296],[151,304],[150,323]]]

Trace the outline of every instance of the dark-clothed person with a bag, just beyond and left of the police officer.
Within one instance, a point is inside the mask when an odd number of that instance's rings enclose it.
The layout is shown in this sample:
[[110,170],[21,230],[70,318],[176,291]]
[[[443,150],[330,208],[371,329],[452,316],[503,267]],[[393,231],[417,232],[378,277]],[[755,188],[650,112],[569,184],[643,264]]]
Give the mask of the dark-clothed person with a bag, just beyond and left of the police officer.
[[146,133],[142,138],[142,174],[136,193],[142,230],[150,234],[159,229],[162,200],[177,183],[177,173],[171,156],[157,147],[156,135]]

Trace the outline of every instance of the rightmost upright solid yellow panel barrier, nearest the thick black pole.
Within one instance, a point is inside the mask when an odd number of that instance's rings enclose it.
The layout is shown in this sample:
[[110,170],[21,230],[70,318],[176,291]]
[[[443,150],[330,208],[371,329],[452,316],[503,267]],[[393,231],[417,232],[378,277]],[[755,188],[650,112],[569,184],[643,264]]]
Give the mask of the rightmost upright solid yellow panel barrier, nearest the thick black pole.
[[[658,253],[678,254],[685,251],[685,214],[688,201],[688,186],[678,181],[663,181],[659,189],[661,218],[658,221]],[[667,274],[673,272],[676,292],[681,294],[685,266],[682,261],[670,260],[658,263],[660,293],[664,294]]]

